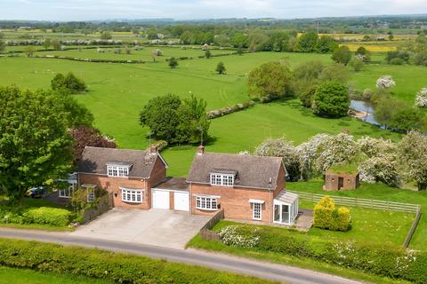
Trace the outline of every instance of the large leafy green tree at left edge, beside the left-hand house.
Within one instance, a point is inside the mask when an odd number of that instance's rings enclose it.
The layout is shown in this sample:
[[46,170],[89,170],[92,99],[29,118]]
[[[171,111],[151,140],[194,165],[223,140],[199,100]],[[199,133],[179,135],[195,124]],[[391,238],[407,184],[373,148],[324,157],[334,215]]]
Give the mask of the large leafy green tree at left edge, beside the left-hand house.
[[70,170],[71,138],[67,117],[44,91],[0,87],[0,187],[11,201],[28,188],[50,185]]

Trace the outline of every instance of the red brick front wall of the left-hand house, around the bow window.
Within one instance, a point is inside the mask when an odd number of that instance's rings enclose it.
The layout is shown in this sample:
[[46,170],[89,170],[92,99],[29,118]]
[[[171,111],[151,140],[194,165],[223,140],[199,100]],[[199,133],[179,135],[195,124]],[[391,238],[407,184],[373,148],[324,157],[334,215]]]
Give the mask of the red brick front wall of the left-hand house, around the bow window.
[[[78,182],[80,185],[91,184],[98,185],[113,193],[113,206],[122,208],[137,208],[137,209],[150,209],[151,208],[151,190],[147,190],[148,182],[143,178],[132,177],[107,177],[93,174],[79,174]],[[144,190],[142,203],[127,203],[122,201],[120,186],[129,187],[134,189]],[[117,196],[116,196],[117,193]]]

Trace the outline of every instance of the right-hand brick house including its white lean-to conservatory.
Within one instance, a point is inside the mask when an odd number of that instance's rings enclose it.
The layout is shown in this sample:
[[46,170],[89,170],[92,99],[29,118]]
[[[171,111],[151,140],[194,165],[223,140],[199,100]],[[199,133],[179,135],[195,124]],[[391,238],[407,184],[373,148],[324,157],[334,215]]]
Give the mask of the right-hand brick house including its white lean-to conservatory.
[[206,153],[199,146],[187,177],[191,213],[223,209],[228,219],[291,225],[298,195],[286,192],[285,179],[282,158]]

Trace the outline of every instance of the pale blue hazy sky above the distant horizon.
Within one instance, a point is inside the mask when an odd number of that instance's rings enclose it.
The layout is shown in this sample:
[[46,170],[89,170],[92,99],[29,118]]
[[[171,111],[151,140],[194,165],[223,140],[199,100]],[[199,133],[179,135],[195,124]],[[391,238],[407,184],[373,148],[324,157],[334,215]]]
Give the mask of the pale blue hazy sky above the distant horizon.
[[427,14],[427,0],[0,0],[0,20],[319,18]]

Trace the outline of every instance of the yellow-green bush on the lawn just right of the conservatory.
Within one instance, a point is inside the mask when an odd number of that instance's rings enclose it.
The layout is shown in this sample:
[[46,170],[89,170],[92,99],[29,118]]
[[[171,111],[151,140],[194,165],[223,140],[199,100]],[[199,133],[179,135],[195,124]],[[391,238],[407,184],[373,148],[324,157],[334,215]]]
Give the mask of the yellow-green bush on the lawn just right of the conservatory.
[[334,200],[325,196],[314,207],[313,225],[326,230],[345,232],[350,226],[350,209],[336,209]]

